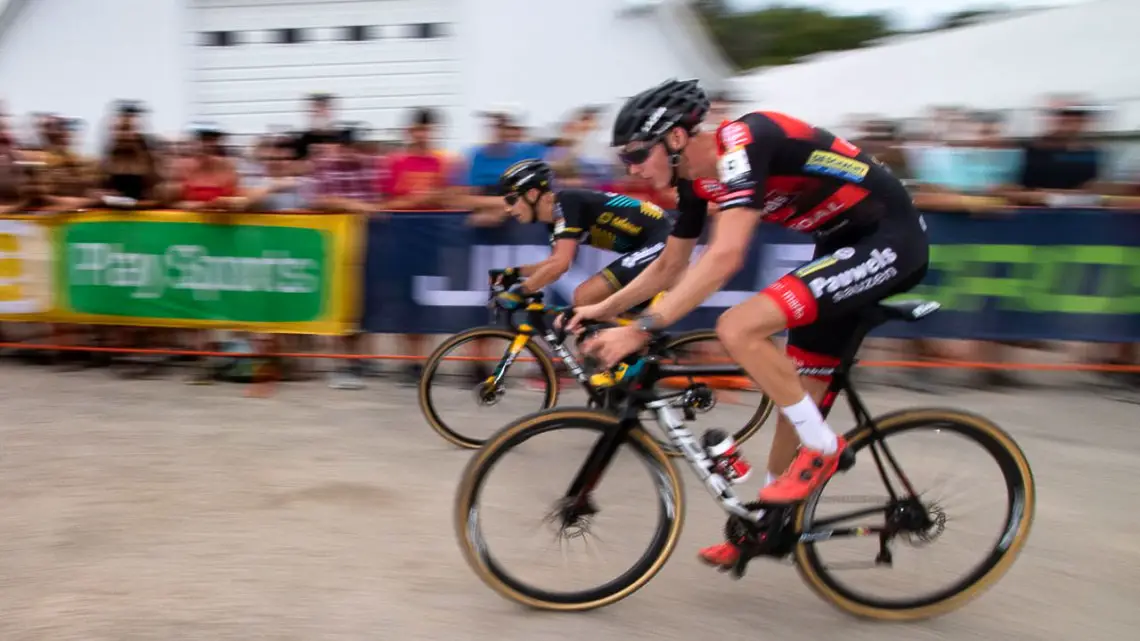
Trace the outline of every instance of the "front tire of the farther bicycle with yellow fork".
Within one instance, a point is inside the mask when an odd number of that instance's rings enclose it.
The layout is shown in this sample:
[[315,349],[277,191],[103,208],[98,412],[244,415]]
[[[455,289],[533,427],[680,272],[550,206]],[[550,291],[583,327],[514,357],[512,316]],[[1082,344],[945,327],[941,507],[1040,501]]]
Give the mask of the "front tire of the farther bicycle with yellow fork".
[[[477,341],[480,339],[505,339],[507,341],[513,341],[519,334],[512,332],[504,327],[497,327],[494,325],[472,327],[450,336],[427,357],[424,362],[423,374],[420,376],[418,383],[418,400],[420,411],[423,413],[424,419],[431,429],[435,430],[435,433],[441,436],[443,440],[463,447],[465,449],[478,449],[482,447],[487,439],[472,438],[459,433],[457,430],[446,424],[440,417],[439,412],[431,401],[431,380],[432,375],[439,368],[440,364],[443,362],[443,357],[455,348],[462,346],[466,342]],[[546,391],[543,395],[543,409],[548,409],[554,407],[559,400],[559,376],[554,370],[554,362],[551,359],[549,355],[531,338],[527,341],[524,351],[529,352],[539,367],[543,371],[543,378],[546,380]]]

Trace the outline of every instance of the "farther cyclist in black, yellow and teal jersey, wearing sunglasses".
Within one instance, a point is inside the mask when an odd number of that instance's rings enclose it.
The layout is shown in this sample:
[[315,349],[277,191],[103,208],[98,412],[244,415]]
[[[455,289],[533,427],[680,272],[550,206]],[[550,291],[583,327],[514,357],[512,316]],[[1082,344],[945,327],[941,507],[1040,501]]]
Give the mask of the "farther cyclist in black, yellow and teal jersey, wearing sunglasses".
[[[653,203],[589,189],[554,190],[553,185],[551,165],[535,159],[514,163],[499,177],[507,212],[519,222],[549,227],[552,248],[542,262],[505,270],[506,279],[526,278],[499,294],[498,305],[506,309],[518,308],[526,294],[561,278],[581,244],[621,254],[573,292],[573,305],[598,302],[651,265],[673,229],[673,217]],[[652,295],[634,301],[632,307],[645,303]]]

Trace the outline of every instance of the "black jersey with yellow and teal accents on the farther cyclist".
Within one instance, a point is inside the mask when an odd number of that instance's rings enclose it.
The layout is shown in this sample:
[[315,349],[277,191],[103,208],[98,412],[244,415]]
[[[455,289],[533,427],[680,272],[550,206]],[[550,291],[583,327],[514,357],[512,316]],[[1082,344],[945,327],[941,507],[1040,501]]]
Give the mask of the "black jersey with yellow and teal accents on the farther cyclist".
[[554,195],[551,244],[572,238],[628,253],[663,242],[671,228],[663,209],[629,196],[589,189],[563,189]]

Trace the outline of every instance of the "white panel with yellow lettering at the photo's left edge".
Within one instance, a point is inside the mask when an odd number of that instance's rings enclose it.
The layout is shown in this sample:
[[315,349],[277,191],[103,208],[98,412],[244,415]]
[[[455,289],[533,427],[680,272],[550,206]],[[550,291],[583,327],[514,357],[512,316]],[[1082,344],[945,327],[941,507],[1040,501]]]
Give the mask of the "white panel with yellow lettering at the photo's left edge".
[[47,227],[0,220],[0,314],[36,314],[50,307],[51,244]]

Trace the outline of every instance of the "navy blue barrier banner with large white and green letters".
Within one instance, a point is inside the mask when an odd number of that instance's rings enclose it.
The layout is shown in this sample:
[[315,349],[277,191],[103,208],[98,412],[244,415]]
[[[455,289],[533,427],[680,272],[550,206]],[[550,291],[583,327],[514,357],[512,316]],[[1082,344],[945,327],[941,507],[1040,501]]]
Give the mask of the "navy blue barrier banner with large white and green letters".
[[[927,213],[930,271],[899,298],[944,310],[877,335],[984,340],[1140,340],[1140,216],[1025,210],[984,217]],[[488,320],[487,271],[542,260],[543,226],[477,228],[462,213],[393,212],[368,227],[363,326],[376,333],[454,333]],[[811,238],[762,226],[744,268],[681,328],[711,327],[727,307],[812,258]],[[547,290],[555,303],[617,258],[583,248]]]

